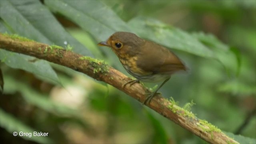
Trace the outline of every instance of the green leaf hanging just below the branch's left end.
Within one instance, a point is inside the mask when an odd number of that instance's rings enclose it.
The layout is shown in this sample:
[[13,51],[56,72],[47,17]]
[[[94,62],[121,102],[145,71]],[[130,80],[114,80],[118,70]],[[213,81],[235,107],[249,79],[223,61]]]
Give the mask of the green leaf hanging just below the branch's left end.
[[0,60],[11,68],[18,68],[31,72],[44,78],[45,81],[53,84],[60,84],[56,72],[45,60],[39,60],[24,54],[17,54],[0,49]]

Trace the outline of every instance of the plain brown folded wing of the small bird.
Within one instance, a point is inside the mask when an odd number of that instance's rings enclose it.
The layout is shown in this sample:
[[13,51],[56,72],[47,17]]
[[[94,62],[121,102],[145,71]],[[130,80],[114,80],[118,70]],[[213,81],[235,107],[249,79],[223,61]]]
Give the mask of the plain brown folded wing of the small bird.
[[186,70],[180,59],[163,46],[147,41],[141,50],[142,57],[138,57],[137,66],[144,71],[172,74]]

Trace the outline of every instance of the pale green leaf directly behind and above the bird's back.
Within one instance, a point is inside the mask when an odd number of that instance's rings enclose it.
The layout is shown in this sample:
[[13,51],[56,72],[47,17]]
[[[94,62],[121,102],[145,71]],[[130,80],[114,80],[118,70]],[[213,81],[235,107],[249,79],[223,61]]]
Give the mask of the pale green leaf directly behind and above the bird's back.
[[136,33],[158,44],[202,57],[216,58],[215,54],[187,32],[158,20],[136,17],[128,22]]

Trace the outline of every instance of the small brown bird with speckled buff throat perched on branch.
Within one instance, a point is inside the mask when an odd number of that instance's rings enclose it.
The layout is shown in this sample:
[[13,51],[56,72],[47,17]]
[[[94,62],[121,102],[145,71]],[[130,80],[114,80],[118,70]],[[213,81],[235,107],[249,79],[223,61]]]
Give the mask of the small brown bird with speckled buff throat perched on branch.
[[143,104],[150,102],[174,72],[186,70],[180,59],[167,48],[139,38],[130,32],[116,32],[98,45],[110,47],[126,71],[136,78],[136,80],[126,82],[122,87],[129,83],[131,86],[140,81],[160,82],[164,80],[157,90],[148,95]]

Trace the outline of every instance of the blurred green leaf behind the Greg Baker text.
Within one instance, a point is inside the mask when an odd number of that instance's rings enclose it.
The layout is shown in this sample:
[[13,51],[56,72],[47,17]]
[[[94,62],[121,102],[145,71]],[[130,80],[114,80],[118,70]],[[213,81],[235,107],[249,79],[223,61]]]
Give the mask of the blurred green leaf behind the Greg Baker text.
[[[29,141],[38,142],[41,144],[53,143],[50,138],[47,136],[34,136],[33,132],[40,132],[33,128],[30,128],[26,124],[22,123],[20,120],[15,118],[14,116],[6,113],[2,108],[0,108],[0,126],[6,129],[10,134],[14,132],[18,132],[18,136],[20,132],[28,132],[31,133],[31,137],[29,136],[20,136],[21,138]],[[49,134],[48,134],[49,135]]]

